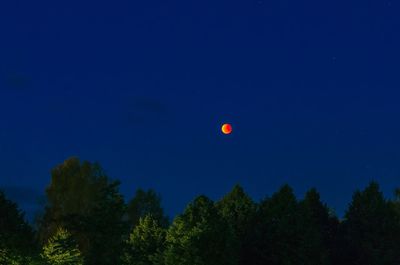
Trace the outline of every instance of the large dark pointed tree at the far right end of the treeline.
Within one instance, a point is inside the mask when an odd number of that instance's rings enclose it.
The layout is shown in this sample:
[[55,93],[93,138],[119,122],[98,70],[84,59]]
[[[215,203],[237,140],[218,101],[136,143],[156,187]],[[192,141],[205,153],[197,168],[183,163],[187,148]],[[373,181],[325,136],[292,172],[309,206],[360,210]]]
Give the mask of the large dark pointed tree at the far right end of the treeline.
[[342,226],[341,264],[400,264],[399,216],[377,183],[354,193]]

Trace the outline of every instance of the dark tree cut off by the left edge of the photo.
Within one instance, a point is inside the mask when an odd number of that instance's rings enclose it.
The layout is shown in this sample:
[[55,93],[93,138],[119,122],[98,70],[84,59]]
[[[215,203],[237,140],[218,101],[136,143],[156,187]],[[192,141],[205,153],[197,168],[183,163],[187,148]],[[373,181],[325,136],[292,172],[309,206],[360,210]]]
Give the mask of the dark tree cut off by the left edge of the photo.
[[34,233],[24,214],[0,191],[0,249],[3,249],[3,254],[28,255],[35,251],[35,247]]

